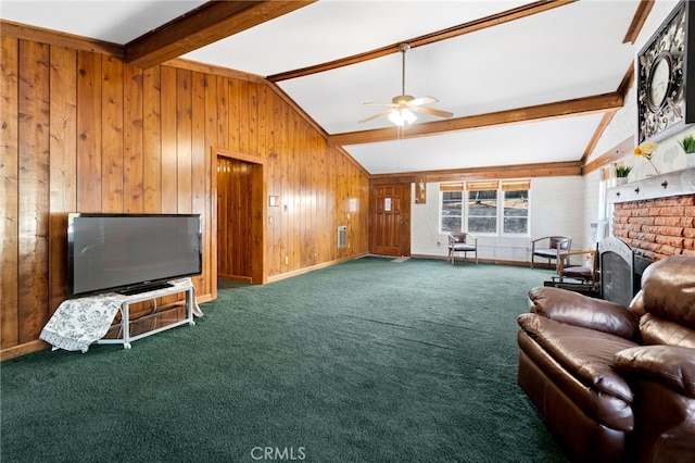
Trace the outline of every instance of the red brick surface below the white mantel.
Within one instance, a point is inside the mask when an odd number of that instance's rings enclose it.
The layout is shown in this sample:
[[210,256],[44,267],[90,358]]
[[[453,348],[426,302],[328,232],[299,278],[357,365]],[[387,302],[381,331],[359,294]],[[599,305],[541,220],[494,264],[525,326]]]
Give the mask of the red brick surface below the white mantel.
[[618,203],[612,235],[655,261],[695,255],[695,195]]

